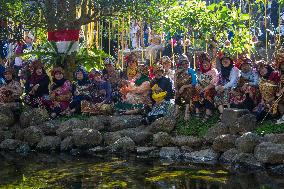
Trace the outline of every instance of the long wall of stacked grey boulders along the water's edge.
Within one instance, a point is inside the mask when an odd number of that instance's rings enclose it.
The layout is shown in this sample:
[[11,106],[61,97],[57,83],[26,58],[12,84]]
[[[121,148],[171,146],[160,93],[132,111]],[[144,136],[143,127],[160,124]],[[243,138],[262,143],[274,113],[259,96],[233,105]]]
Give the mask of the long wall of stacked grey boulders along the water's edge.
[[284,174],[284,134],[253,133],[256,119],[246,110],[225,110],[222,121],[198,138],[174,134],[174,118],[160,118],[148,126],[140,124],[141,116],[49,120],[45,110],[24,108],[17,119],[20,109],[19,105],[0,107],[0,151],[134,153],[141,158],[222,163],[233,172],[270,169]]

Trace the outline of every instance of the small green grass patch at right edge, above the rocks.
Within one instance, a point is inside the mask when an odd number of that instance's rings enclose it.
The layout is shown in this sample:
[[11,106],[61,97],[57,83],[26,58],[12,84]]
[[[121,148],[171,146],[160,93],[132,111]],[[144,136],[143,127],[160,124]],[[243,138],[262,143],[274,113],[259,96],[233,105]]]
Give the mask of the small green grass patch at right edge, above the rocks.
[[265,121],[256,129],[256,133],[259,135],[284,133],[284,124],[276,125],[275,121]]

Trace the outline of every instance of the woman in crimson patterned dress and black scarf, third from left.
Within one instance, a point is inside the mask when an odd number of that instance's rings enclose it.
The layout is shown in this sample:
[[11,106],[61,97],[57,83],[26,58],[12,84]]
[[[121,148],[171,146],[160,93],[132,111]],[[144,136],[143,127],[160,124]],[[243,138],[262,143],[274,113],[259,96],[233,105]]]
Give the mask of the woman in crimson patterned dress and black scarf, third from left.
[[61,67],[54,68],[51,75],[52,84],[48,107],[51,111],[51,118],[55,118],[68,108],[72,98],[72,84],[64,78],[64,71]]

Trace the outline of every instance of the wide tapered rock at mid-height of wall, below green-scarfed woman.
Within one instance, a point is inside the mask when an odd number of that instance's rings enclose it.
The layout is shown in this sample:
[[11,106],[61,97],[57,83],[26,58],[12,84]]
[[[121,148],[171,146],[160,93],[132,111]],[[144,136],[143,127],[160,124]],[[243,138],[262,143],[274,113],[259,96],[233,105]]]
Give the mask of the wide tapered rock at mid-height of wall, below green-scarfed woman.
[[130,128],[119,131],[121,136],[130,137],[137,145],[143,145],[152,141],[153,134],[145,131],[144,127]]

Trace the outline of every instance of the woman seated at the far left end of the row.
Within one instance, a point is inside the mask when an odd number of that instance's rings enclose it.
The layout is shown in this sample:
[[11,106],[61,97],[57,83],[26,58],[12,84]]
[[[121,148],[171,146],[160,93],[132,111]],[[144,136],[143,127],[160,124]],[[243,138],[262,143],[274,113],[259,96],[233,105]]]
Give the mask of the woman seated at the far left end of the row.
[[0,103],[19,102],[22,95],[21,84],[15,81],[15,71],[6,68],[4,72],[5,84],[0,88]]

